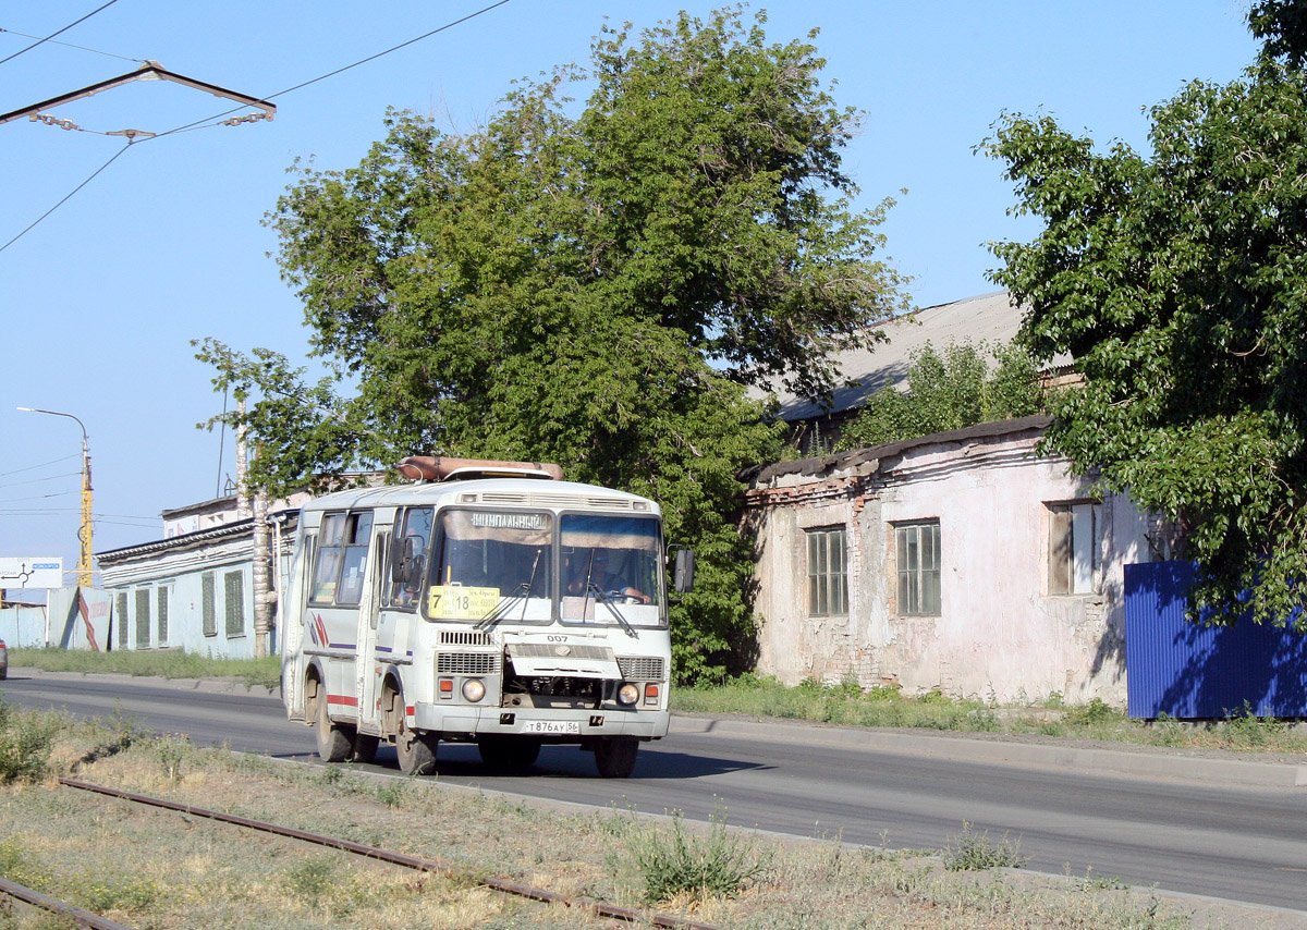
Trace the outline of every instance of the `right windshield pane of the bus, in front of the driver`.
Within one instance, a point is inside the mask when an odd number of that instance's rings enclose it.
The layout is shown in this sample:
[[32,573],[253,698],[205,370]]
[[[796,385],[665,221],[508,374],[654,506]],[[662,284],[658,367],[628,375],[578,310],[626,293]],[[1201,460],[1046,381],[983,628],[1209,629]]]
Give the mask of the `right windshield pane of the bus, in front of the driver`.
[[563,623],[663,622],[659,521],[566,513],[559,519]]

